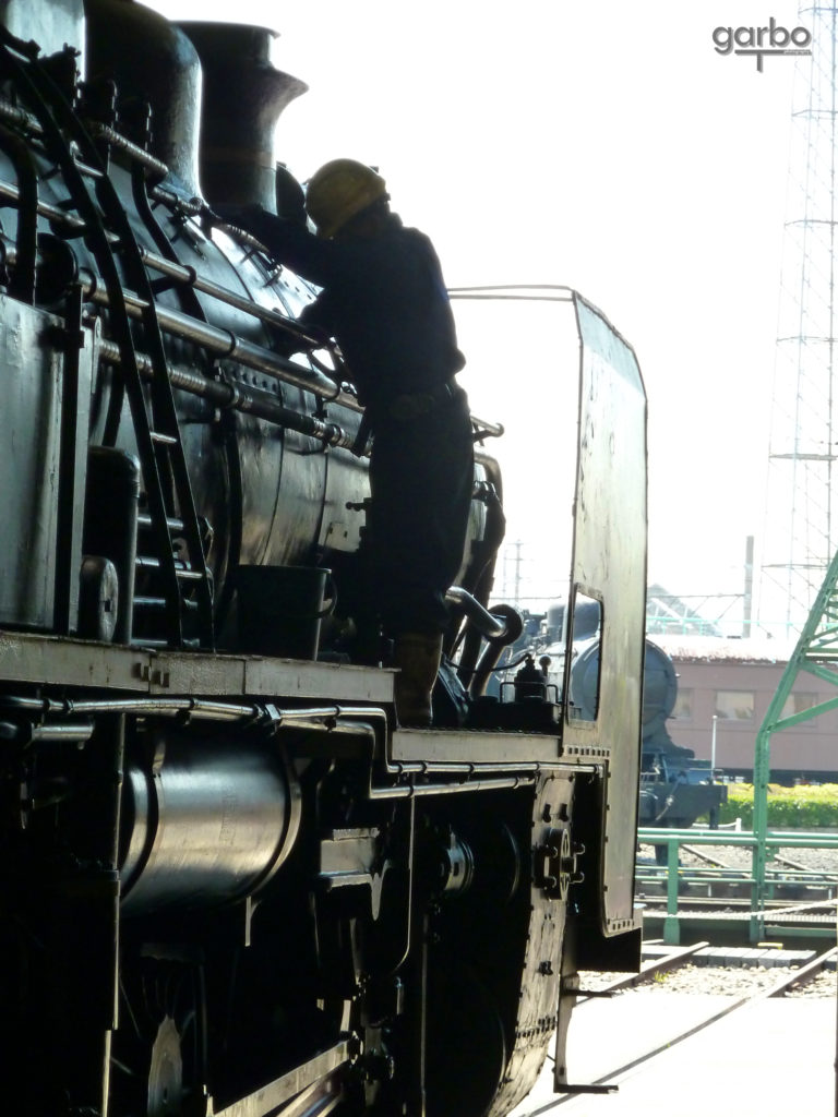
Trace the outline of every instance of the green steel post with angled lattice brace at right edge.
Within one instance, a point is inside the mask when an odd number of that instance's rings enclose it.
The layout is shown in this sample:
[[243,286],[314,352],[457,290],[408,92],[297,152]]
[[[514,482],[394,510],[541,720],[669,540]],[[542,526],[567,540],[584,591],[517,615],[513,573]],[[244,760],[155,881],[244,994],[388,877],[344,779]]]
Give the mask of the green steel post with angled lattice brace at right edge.
[[[801,671],[813,675],[835,688],[835,697],[783,717],[783,709]],[[780,685],[756,734],[753,765],[753,832],[758,839],[753,851],[754,895],[751,938],[762,938],[765,910],[765,868],[768,852],[768,785],[771,773],[771,736],[779,729],[791,728],[818,714],[838,707],[838,554],[832,557],[827,576],[815,599],[809,619],[783,671]]]

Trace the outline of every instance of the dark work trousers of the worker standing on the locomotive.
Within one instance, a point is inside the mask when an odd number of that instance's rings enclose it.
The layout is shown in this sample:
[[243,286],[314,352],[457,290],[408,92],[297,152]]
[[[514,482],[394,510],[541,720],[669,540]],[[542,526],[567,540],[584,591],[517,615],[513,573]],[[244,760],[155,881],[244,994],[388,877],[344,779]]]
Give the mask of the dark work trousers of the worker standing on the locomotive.
[[372,418],[365,575],[385,636],[442,632],[463,562],[474,442],[461,389],[409,420]]

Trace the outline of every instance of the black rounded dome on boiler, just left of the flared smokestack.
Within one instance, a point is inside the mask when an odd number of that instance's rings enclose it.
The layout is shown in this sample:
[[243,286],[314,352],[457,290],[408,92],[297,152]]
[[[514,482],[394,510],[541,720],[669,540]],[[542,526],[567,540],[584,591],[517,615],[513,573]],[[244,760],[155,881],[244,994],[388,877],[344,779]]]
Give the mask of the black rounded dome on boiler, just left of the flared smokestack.
[[85,11],[88,78],[112,78],[120,102],[151,105],[152,154],[188,194],[199,195],[201,65],[194,47],[177,25],[134,0],[85,0]]

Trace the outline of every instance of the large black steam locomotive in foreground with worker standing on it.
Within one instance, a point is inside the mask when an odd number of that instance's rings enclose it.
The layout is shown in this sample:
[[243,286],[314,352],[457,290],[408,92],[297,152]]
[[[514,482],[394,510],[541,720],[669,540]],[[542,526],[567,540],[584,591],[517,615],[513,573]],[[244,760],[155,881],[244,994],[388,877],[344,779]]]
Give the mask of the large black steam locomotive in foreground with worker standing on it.
[[272,136],[303,86],[268,41],[131,0],[0,3],[0,1107],[18,1117],[499,1117],[551,1044],[556,1089],[584,1088],[564,1058],[578,971],[639,956],[634,352],[568,293],[569,632],[598,601],[596,709],[483,694],[517,620],[487,609],[499,429],[475,419],[436,727],[401,728],[393,671],[342,643],[362,409],[334,352],[279,355],[312,288],[213,216],[298,204]]

